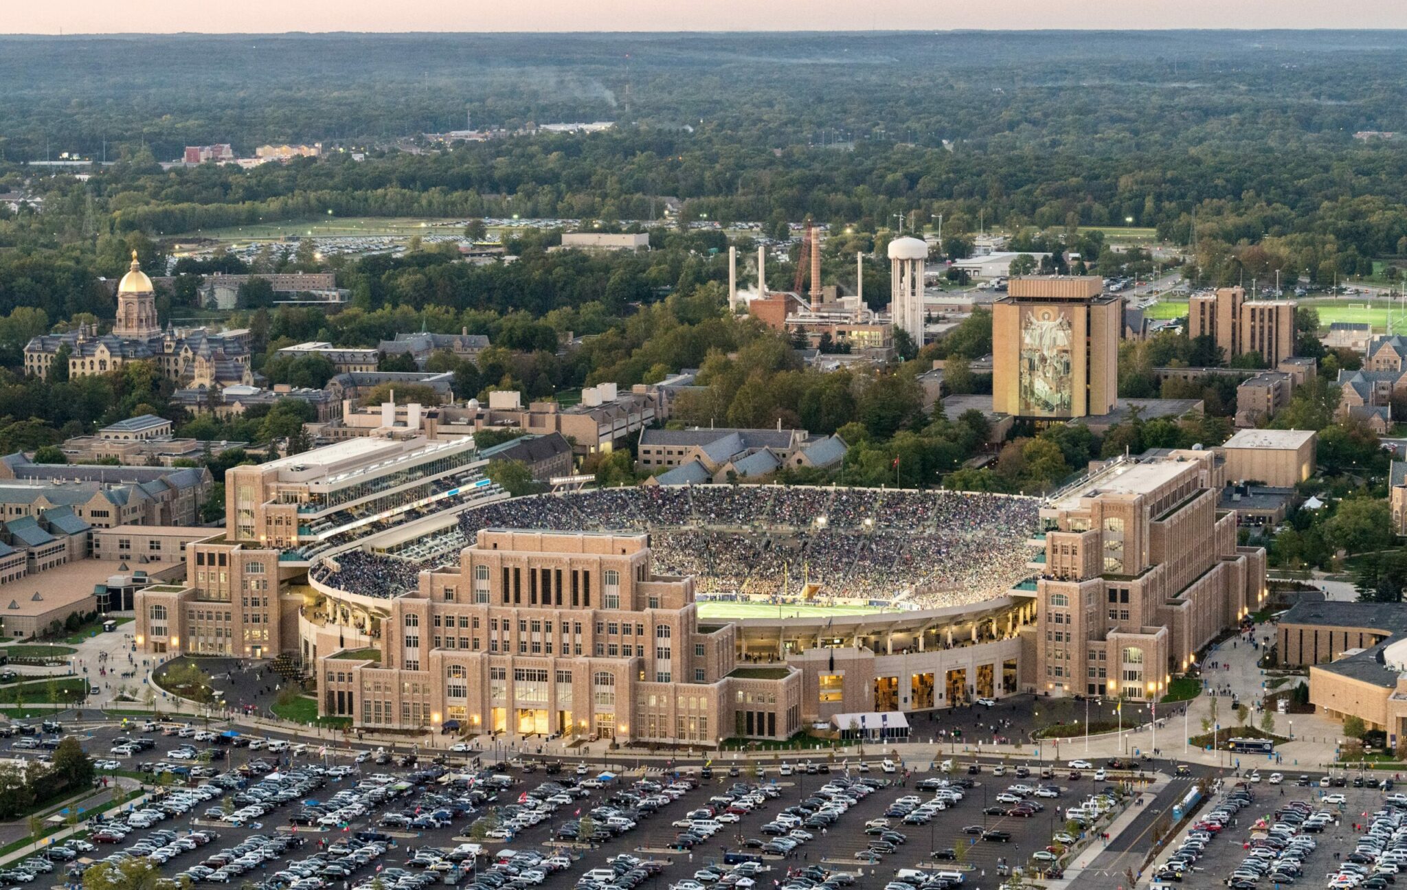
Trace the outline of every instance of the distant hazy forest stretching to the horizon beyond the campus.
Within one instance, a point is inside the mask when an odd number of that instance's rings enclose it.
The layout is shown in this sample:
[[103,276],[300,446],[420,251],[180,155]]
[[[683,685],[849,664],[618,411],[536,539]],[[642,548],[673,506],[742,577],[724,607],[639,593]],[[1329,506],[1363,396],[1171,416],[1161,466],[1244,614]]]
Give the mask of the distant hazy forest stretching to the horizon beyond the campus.
[[[177,35],[0,49],[0,187],[45,200],[38,218],[0,218],[0,247],[328,214],[650,221],[675,197],[685,221],[767,231],[808,215],[874,233],[940,215],[957,235],[1152,226],[1196,243],[1204,283],[1407,262],[1407,139],[1355,139],[1407,132],[1397,32],[559,35],[550,48],[522,35]],[[405,150],[470,118],[618,125]],[[248,155],[270,141],[366,159],[156,163],[187,143]],[[27,166],[61,152],[118,163],[83,183]],[[97,307],[79,295],[70,308]]]

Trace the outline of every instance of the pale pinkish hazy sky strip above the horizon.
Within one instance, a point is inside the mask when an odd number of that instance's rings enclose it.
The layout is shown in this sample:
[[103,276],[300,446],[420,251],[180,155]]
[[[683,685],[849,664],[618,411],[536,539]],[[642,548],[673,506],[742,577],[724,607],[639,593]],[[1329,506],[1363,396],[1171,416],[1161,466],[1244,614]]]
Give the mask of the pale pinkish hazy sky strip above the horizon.
[[1407,28],[1403,0],[63,0],[4,4],[11,34]]

